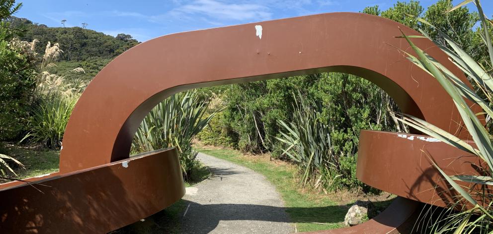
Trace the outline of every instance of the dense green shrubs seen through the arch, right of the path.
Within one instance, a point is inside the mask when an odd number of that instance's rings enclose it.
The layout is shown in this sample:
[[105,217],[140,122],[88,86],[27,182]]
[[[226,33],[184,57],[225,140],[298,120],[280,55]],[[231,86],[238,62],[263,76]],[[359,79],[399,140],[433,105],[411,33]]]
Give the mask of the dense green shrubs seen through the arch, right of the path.
[[[326,157],[332,157],[330,162],[335,166],[323,164],[316,170],[317,173],[331,173],[324,175],[325,185],[329,189],[339,189],[358,184],[369,190],[356,179],[355,165],[341,163],[356,162],[359,130],[406,131],[406,128],[398,124],[389,112],[398,111],[392,99],[376,85],[353,75],[322,73],[230,85],[220,96],[226,108],[213,120],[211,129],[215,130],[207,133],[204,143],[233,145],[244,152],[268,151],[273,157],[287,160],[307,158],[304,157],[307,155],[309,158],[311,152],[304,156],[293,154],[293,157],[283,154],[288,146],[277,140],[284,137],[282,122],[287,125],[296,121],[304,123],[304,120],[296,120],[297,108],[293,106],[296,103],[293,93],[298,93],[298,90],[307,102],[319,103],[316,122],[327,126],[330,134],[331,145],[324,147],[332,148],[333,155]],[[204,139],[202,135],[200,137]],[[306,145],[306,149],[310,147]],[[305,172],[306,165],[301,165]]]

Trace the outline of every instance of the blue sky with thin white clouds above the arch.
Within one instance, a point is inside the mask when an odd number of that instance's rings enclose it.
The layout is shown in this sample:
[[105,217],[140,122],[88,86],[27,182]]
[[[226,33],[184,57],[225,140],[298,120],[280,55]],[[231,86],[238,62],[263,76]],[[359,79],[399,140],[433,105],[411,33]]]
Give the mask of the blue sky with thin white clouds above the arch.
[[[461,0],[453,0],[459,3]],[[19,2],[19,1],[18,1]],[[132,35],[139,41],[183,31],[236,25],[326,12],[361,11],[397,0],[24,0],[15,15],[49,27],[81,26],[105,34]],[[436,0],[421,0],[427,7]],[[493,0],[482,0],[488,16]],[[470,7],[474,5],[470,3]]]

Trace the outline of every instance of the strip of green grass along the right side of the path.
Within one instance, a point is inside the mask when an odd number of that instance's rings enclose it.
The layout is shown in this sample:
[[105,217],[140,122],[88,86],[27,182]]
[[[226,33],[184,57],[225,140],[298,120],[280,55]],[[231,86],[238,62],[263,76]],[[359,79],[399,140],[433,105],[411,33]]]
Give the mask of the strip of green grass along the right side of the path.
[[231,149],[196,148],[195,150],[245,166],[264,175],[281,194],[286,212],[296,225],[298,232],[344,227],[344,216],[352,203],[339,205],[328,196],[311,196],[302,193],[298,189],[295,168],[265,160],[251,159],[253,157],[242,157],[241,153]]

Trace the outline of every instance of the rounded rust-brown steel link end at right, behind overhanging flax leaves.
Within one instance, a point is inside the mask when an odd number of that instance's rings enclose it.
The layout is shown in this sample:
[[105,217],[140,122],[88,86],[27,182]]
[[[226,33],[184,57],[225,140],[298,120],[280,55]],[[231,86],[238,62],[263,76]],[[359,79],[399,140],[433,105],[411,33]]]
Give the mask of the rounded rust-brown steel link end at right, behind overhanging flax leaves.
[[[412,200],[445,207],[458,200],[460,194],[440,176],[430,160],[447,175],[481,175],[486,168],[479,157],[423,135],[362,130],[358,149],[356,177],[378,189]],[[468,141],[476,148],[474,142]],[[476,188],[475,183],[459,182],[464,187]],[[476,185],[476,186],[475,186]],[[474,196],[473,196],[474,197]],[[489,200],[478,203],[484,206]],[[464,205],[470,205],[465,203]]]

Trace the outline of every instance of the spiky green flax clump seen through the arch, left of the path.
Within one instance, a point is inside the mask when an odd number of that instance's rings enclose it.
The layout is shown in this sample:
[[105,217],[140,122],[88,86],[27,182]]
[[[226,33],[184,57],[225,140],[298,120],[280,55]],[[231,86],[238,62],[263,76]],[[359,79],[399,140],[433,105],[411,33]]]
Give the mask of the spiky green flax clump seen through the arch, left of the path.
[[218,112],[206,116],[210,100],[189,90],[171,95],[158,104],[141,122],[132,143],[133,152],[176,147],[183,177],[188,179],[195,166],[197,152],[192,140]]

